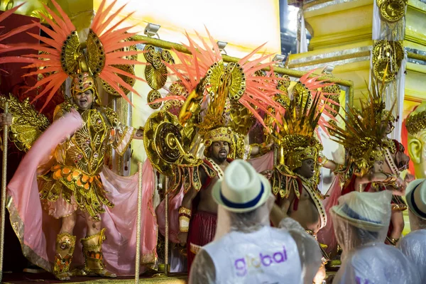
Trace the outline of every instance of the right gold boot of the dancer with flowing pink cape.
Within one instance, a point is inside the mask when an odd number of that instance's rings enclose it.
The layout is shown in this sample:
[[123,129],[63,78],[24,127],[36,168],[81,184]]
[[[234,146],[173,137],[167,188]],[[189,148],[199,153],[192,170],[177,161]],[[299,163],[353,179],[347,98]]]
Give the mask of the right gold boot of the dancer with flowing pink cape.
[[97,274],[105,277],[116,277],[116,274],[107,271],[104,265],[102,243],[105,240],[105,229],[92,236],[81,239],[84,255],[84,271],[88,274]]

